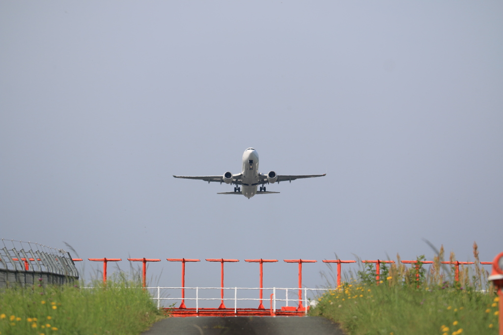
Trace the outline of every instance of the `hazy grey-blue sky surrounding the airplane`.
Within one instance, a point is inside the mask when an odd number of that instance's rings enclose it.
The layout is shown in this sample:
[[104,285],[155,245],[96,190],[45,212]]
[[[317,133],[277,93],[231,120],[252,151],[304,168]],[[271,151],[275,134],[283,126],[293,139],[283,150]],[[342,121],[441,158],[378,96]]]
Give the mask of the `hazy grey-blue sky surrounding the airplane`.
[[[500,1],[0,2],[0,237],[81,258],[503,249]],[[172,175],[326,177],[217,195]],[[86,271],[98,267],[86,265]],[[99,266],[101,267],[101,265]],[[122,268],[127,268],[125,262]],[[152,264],[180,285],[180,264]],[[266,286],[297,267],[265,265]],[[218,264],[187,266],[218,286]]]

